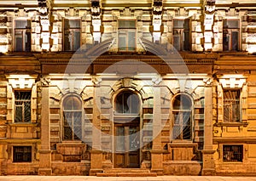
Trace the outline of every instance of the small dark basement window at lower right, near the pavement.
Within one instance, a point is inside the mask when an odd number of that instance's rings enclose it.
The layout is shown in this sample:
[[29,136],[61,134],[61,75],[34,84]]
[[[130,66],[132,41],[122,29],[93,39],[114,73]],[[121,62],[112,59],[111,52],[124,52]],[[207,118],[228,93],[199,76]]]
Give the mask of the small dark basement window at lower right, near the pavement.
[[223,145],[223,161],[242,161],[242,145]]

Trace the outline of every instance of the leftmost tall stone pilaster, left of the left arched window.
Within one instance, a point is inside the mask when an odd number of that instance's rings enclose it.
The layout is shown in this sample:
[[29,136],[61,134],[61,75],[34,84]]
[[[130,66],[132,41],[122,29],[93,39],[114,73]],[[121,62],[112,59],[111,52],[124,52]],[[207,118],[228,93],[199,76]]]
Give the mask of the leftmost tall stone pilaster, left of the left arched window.
[[42,87],[41,111],[41,150],[39,150],[38,175],[51,175],[50,123],[49,123],[49,87]]

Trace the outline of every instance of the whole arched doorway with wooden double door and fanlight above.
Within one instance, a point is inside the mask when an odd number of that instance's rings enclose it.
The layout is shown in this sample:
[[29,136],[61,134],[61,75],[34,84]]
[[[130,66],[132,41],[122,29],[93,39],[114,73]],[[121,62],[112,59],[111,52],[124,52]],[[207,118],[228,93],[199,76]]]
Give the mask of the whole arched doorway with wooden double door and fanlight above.
[[140,99],[122,91],[114,99],[113,167],[140,167]]

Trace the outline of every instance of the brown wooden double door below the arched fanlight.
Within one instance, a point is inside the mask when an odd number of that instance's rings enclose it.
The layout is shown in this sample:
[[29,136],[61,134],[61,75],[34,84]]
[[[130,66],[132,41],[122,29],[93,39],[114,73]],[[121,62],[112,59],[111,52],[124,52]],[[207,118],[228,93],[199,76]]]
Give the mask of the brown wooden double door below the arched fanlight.
[[139,167],[139,127],[137,125],[116,125],[114,134],[114,167]]

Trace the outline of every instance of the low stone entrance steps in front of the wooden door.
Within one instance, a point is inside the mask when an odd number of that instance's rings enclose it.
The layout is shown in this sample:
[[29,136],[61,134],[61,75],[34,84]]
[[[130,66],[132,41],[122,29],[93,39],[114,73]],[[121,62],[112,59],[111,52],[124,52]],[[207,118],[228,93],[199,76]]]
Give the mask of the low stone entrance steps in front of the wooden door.
[[146,168],[109,168],[103,173],[96,173],[97,177],[156,177],[157,173],[150,173]]

